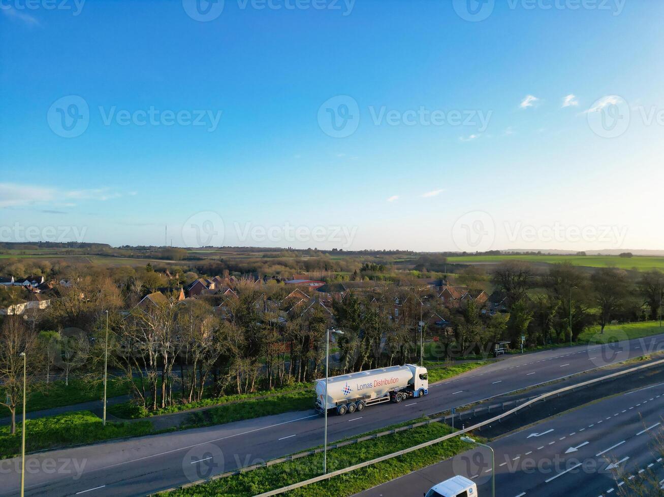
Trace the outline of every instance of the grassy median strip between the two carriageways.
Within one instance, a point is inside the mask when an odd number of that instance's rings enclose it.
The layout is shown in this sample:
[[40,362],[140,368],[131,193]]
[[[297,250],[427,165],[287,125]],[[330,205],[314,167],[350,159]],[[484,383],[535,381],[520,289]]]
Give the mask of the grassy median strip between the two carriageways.
[[[389,427],[392,428],[392,427]],[[380,430],[383,431],[383,430]],[[327,453],[329,472],[343,469],[362,461],[369,461],[401,449],[407,449],[426,441],[452,433],[452,428],[444,423],[432,423],[394,435],[386,435],[361,443],[333,449]],[[400,457],[388,459],[360,470],[335,476],[329,480],[298,488],[289,492],[293,496],[319,497],[321,495],[348,496],[392,480],[408,472],[448,459],[465,451],[469,445],[454,437],[442,443],[414,451]],[[295,482],[307,480],[321,474],[323,455],[303,457],[289,463],[281,463],[268,468],[214,480],[199,486],[177,490],[167,495],[175,496],[248,496],[274,488],[281,488]]]

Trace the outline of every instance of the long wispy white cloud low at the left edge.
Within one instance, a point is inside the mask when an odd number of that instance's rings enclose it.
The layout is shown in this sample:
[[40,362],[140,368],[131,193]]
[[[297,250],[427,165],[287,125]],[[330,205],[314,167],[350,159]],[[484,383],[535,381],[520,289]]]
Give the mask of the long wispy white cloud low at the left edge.
[[[110,200],[122,197],[122,193],[111,192],[108,188],[90,188],[86,190],[59,190],[38,185],[19,185],[0,183],[0,207],[15,205],[35,205],[59,203],[73,206],[71,200]],[[68,201],[68,202],[66,202]]]

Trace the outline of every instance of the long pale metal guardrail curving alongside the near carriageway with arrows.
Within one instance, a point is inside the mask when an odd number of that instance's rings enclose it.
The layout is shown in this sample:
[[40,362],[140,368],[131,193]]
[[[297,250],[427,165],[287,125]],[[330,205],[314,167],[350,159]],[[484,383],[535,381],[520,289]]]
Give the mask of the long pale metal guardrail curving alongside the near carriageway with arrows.
[[[499,421],[500,419],[503,419],[503,417],[507,417],[511,414],[514,414],[515,412],[518,412],[518,411],[522,410],[523,408],[527,408],[528,406],[531,406],[532,404],[535,404],[535,402],[539,402],[540,400],[544,400],[544,399],[549,398],[551,396],[558,396],[562,392],[568,392],[570,390],[574,390],[575,388],[581,388],[583,386],[587,386],[587,385],[594,384],[594,383],[599,383],[599,382],[602,382],[604,380],[608,380],[610,378],[616,378],[618,376],[622,376],[623,374],[629,374],[631,372],[635,372],[635,371],[638,371],[638,370],[641,370],[641,369],[656,366],[657,364],[664,364],[664,359],[657,360],[655,362],[649,362],[649,364],[643,364],[641,366],[637,366],[635,368],[627,369],[627,370],[624,370],[624,371],[618,371],[618,372],[615,372],[615,373],[612,373],[612,374],[608,374],[607,376],[602,376],[600,378],[594,378],[593,380],[588,380],[588,381],[581,382],[581,383],[578,383],[578,384],[575,384],[575,385],[566,386],[564,388],[558,388],[558,390],[554,390],[552,392],[547,392],[546,394],[542,394],[542,395],[539,395],[535,398],[527,400],[526,402],[521,404],[521,406],[517,406],[517,407],[515,407],[515,408],[513,408],[513,409],[511,409],[507,412],[504,412],[503,414],[499,414],[497,416],[492,417],[491,419],[487,419],[486,421],[482,421],[481,423],[477,423],[476,425],[469,426],[465,429],[455,431],[454,433],[450,433],[448,435],[445,435],[444,437],[440,437],[440,438],[437,438],[435,440],[430,440],[428,442],[423,442],[423,443],[420,443],[419,445],[415,445],[414,447],[408,447],[408,449],[402,449],[401,451],[398,451],[398,452],[394,452],[394,453],[387,454],[387,455],[384,455],[384,456],[381,456],[381,457],[377,457],[376,459],[371,459],[371,461],[365,461],[363,463],[358,463],[357,465],[349,466],[347,468],[339,469],[339,470],[336,470],[336,471],[333,471],[333,472],[329,472],[327,474],[321,474],[320,476],[315,476],[314,478],[309,478],[309,480],[304,480],[304,481],[301,481],[301,482],[293,483],[291,485],[284,486],[282,488],[277,488],[276,490],[270,490],[269,492],[264,492],[262,494],[258,494],[258,496],[255,496],[255,497],[270,497],[270,496],[273,496],[273,495],[283,494],[284,492],[288,492],[289,490],[295,490],[295,488],[300,488],[302,486],[307,486],[307,485],[310,485],[312,483],[320,482],[320,481],[323,481],[323,480],[329,480],[329,478],[334,478],[335,476],[339,476],[340,474],[345,474],[347,472],[351,472],[351,471],[354,471],[356,469],[365,468],[367,466],[371,466],[371,465],[374,465],[376,463],[380,463],[382,461],[387,461],[388,459],[392,459],[394,457],[399,457],[399,456],[402,456],[402,455],[405,455],[405,454],[408,454],[408,453],[411,453],[411,452],[414,452],[414,451],[418,451],[420,449],[424,449],[425,447],[430,447],[431,445],[434,445],[436,443],[440,443],[442,441],[449,440],[453,437],[463,435],[463,433],[467,433],[469,431],[479,429],[479,428],[481,428],[485,425],[488,425],[490,423],[493,423],[495,421]],[[439,420],[440,420],[440,418],[439,418]],[[426,424],[426,423],[430,423],[430,422],[432,422],[432,421],[422,421],[421,424]],[[420,423],[417,423],[417,424],[420,424]],[[407,429],[408,427],[402,427],[401,429],[404,429],[404,428]],[[396,430],[400,430],[400,429],[398,428]],[[392,431],[392,430],[390,430],[390,431]],[[322,450],[322,449],[320,449],[320,450]]]

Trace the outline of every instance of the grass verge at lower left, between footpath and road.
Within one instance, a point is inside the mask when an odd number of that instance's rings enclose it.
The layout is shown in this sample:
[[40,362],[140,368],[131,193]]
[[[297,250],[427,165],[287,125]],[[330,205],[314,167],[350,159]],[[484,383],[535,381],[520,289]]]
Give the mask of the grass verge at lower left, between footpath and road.
[[[27,452],[153,433],[150,421],[106,423],[104,427],[102,420],[89,411],[28,419],[25,424]],[[0,459],[15,457],[20,452],[21,424],[17,425],[15,435],[10,435],[9,426],[0,427]]]

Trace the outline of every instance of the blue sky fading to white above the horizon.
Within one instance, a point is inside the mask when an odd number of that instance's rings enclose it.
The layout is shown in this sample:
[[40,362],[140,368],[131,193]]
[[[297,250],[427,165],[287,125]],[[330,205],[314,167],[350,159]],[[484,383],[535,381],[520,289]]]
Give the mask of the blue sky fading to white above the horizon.
[[663,248],[661,2],[62,1],[0,4],[1,241]]

